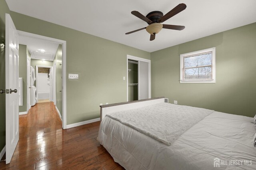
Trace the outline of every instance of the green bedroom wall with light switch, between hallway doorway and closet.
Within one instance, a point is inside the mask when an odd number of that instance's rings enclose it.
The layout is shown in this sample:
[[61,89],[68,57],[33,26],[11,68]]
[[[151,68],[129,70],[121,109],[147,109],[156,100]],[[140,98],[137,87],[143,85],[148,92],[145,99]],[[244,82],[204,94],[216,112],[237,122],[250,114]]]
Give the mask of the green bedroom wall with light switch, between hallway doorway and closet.
[[18,30],[66,41],[67,124],[99,118],[100,103],[126,101],[127,54],[150,59],[149,52],[117,42],[12,11],[11,17]]

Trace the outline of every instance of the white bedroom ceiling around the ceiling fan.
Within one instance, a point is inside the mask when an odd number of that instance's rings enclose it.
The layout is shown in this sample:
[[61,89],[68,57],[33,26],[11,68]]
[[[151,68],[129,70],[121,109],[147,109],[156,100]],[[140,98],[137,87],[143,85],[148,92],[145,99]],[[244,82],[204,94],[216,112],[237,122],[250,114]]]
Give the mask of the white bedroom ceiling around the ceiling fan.
[[[6,0],[10,10],[153,52],[256,22],[256,0]],[[156,39],[141,30],[147,23],[131,14],[164,14],[180,3],[187,8],[164,24],[184,25],[182,31],[162,29]]]

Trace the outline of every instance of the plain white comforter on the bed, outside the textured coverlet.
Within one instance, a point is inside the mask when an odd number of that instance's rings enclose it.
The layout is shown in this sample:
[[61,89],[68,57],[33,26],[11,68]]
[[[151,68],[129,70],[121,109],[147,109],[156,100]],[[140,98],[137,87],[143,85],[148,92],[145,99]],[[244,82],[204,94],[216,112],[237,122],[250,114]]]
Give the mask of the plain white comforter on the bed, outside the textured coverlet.
[[252,120],[213,112],[168,146],[106,116],[98,140],[126,170],[255,170]]

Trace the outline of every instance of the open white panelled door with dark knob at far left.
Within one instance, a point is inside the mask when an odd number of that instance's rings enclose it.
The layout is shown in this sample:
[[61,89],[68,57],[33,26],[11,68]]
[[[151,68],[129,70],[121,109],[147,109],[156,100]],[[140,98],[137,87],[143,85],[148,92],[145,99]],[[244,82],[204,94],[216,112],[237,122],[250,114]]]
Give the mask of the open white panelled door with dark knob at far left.
[[6,79],[6,164],[10,163],[19,140],[19,43],[18,32],[9,14],[5,14]]

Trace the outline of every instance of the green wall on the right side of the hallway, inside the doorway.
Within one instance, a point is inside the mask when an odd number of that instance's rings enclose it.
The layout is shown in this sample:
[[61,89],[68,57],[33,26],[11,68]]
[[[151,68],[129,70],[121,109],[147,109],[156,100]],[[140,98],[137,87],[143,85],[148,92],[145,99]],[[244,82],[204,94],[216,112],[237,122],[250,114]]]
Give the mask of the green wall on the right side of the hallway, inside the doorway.
[[56,107],[60,111],[62,117],[62,45],[58,46],[56,56]]

